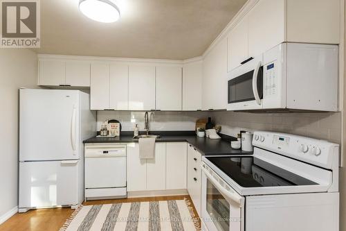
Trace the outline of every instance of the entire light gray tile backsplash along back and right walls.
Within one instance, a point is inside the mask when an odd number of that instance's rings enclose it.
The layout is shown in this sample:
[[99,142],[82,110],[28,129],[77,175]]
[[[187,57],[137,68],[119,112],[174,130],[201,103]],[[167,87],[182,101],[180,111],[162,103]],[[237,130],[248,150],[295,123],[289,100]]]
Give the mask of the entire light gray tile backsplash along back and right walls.
[[[98,111],[98,129],[107,119],[117,119],[123,131],[138,123],[144,128],[145,112]],[[197,119],[212,117],[221,133],[236,137],[239,130],[270,130],[341,143],[341,113],[149,112],[150,130],[194,130]]]

